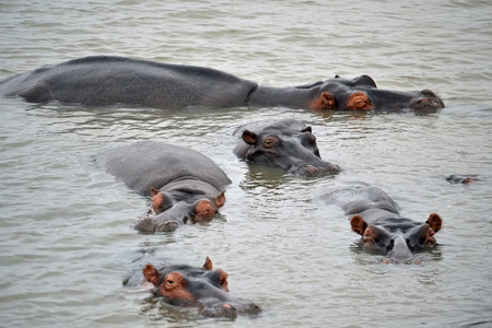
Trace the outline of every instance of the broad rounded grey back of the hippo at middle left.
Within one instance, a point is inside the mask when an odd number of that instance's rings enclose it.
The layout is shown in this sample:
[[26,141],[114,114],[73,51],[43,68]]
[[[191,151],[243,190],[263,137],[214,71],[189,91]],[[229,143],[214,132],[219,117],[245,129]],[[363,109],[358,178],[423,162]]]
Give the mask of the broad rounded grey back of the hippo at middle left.
[[206,155],[183,147],[141,141],[106,151],[96,163],[141,195],[183,178],[196,178],[222,190],[231,184],[224,172]]

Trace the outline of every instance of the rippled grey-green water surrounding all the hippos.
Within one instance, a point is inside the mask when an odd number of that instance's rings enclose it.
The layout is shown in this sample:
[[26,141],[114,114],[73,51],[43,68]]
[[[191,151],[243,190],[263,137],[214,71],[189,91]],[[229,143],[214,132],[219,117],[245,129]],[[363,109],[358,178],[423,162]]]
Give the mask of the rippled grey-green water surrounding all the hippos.
[[[86,55],[213,67],[266,85],[371,74],[429,87],[436,115],[289,108],[166,112],[0,99],[0,326],[415,327],[492,321],[492,4],[490,1],[3,1],[0,78]],[[244,122],[294,117],[344,172],[293,178],[232,149]],[[131,229],[147,199],[92,166],[137,140],[208,154],[231,177],[215,220],[174,234]],[[449,174],[476,175],[470,186]],[[373,184],[424,221],[444,220],[420,266],[360,251],[348,218],[320,196]],[[256,318],[198,318],[121,282],[156,261],[230,273]],[[487,325],[484,325],[487,326]]]

